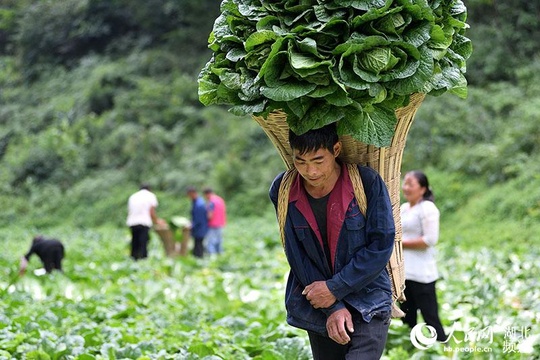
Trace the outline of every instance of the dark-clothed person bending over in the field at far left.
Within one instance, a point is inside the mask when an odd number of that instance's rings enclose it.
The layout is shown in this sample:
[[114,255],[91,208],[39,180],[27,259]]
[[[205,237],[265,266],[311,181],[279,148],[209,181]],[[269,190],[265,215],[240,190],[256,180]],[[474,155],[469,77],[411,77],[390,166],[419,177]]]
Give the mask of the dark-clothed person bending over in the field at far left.
[[41,235],[36,236],[32,240],[32,246],[28,253],[21,258],[19,274],[24,275],[32,254],[36,254],[41,259],[47,273],[53,270],[62,271],[62,259],[65,252],[64,245],[59,240],[45,239]]

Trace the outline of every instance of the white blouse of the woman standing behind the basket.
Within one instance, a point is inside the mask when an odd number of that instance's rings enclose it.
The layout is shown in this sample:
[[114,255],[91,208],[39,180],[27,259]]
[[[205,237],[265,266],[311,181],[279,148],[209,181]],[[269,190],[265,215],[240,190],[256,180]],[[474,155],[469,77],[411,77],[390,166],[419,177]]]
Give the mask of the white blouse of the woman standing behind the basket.
[[439,209],[431,201],[421,201],[411,207],[401,205],[401,228],[403,240],[422,237],[428,245],[425,249],[403,248],[405,279],[431,283],[439,278],[435,244],[439,240]]

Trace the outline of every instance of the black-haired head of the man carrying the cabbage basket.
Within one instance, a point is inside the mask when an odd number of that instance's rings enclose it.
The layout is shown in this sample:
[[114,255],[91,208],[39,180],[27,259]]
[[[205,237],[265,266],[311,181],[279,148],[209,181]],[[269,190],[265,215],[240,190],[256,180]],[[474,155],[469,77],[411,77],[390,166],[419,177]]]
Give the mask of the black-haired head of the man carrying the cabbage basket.
[[[336,124],[310,130],[302,135],[289,134],[294,167],[310,188],[332,187],[339,176],[336,158],[341,152],[341,142]],[[324,192],[324,191],[323,191]]]

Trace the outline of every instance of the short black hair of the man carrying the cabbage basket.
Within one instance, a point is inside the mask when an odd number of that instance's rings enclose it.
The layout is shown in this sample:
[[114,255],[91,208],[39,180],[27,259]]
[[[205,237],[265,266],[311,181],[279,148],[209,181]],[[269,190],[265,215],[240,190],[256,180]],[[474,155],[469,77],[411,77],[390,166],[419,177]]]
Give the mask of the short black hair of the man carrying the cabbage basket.
[[289,130],[289,145],[291,149],[298,150],[300,154],[319,149],[328,149],[333,154],[334,145],[338,141],[339,136],[335,122],[309,130],[301,135],[296,135],[292,130]]

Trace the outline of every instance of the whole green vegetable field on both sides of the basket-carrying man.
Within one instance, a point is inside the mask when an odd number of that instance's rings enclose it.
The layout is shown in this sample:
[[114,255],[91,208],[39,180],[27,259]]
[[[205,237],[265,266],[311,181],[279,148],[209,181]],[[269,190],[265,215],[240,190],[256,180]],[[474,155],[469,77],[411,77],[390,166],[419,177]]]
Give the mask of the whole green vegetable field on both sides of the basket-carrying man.
[[[305,334],[285,323],[272,216],[232,219],[226,253],[202,260],[165,258],[154,233],[150,258],[134,262],[127,229],[49,229],[66,246],[65,273],[40,275],[32,258],[24,277],[18,261],[34,232],[2,234],[0,359],[310,359]],[[538,250],[440,245],[452,340],[411,340],[394,320],[384,359],[540,359]]]

